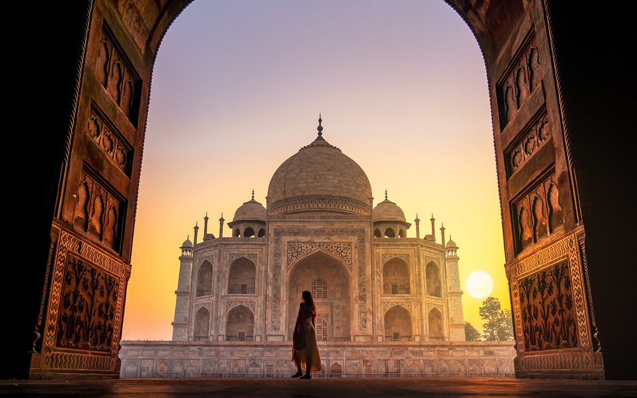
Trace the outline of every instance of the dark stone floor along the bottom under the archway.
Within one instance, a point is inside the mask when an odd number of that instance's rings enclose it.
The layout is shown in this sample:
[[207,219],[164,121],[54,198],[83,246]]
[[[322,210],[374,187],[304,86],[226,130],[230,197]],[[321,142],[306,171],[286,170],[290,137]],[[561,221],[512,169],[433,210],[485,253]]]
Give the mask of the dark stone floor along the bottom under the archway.
[[0,381],[15,397],[637,397],[636,381],[514,378],[123,379]]

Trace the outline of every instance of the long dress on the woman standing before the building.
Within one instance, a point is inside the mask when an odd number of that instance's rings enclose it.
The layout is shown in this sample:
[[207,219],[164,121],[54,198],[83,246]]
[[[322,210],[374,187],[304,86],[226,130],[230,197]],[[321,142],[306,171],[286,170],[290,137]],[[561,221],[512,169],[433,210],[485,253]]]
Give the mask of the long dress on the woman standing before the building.
[[294,345],[292,360],[297,366],[301,366],[301,369],[304,369],[306,373],[318,372],[321,369],[317,332],[312,323],[316,316],[314,311],[306,308],[305,303],[301,302],[299,315],[296,316],[296,325],[294,325],[294,334],[292,334]]

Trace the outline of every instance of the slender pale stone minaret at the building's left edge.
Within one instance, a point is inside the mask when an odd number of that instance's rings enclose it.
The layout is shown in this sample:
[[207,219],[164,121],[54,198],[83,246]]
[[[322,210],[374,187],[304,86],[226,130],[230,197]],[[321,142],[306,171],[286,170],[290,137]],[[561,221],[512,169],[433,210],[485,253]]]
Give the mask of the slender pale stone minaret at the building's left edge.
[[188,339],[188,314],[190,311],[190,273],[192,272],[192,242],[186,239],[182,243],[182,255],[179,256],[179,281],[177,282],[177,300],[175,302],[175,320],[173,321],[173,340]]

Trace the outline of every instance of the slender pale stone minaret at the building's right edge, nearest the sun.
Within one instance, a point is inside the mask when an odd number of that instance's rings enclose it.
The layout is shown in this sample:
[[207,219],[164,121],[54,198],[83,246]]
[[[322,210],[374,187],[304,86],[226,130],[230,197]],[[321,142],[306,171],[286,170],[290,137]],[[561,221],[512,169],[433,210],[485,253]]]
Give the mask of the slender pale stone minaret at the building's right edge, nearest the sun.
[[464,314],[462,313],[462,290],[458,270],[458,246],[451,240],[445,248],[445,266],[447,267],[447,309],[449,314],[449,340],[466,341],[464,336]]

